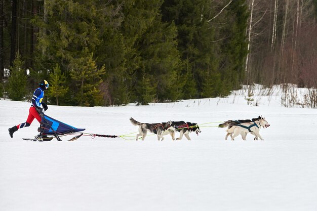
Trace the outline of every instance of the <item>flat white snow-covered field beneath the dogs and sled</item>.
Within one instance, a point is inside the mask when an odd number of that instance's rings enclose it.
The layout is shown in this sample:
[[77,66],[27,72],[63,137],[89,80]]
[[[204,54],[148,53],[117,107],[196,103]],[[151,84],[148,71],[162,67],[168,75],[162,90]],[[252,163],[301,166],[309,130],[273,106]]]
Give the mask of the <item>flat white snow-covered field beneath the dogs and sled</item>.
[[[87,133],[73,142],[32,142],[38,123],[11,139],[30,103],[0,100],[0,210],[317,210],[317,109],[284,108],[280,97],[259,106],[243,96],[124,107],[49,105],[46,114]],[[225,141],[219,121],[263,115],[264,141]],[[141,122],[185,120],[201,125],[172,141],[135,141]],[[177,137],[179,134],[177,134]],[[65,140],[71,137],[64,137]],[[131,139],[131,140],[127,140]],[[133,140],[132,140],[133,139]]]

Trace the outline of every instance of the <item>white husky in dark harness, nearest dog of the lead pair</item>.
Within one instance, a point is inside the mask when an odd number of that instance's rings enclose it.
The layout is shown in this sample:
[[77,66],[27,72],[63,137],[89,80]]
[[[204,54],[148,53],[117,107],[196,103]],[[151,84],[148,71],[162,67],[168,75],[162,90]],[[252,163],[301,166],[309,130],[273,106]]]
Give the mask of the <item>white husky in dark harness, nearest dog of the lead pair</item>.
[[268,126],[270,126],[270,124],[262,116],[259,116],[258,118],[253,118],[252,120],[253,121],[250,122],[242,122],[240,124],[232,125],[228,130],[226,130],[226,138],[229,134],[231,136],[231,140],[233,141],[235,137],[241,135],[242,139],[246,140],[247,134],[252,133],[255,136],[256,140],[258,140],[258,138],[264,140],[260,136],[260,129],[262,128],[262,126],[263,128],[267,128]]

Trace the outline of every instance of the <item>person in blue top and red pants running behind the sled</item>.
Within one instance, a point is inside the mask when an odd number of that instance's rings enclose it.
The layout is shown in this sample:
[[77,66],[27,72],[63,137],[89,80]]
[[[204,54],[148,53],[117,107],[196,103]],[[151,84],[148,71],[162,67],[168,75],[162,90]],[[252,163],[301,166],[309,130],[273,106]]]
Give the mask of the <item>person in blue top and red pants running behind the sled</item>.
[[37,110],[42,110],[41,105],[43,106],[44,110],[48,109],[47,104],[42,102],[44,97],[44,91],[48,88],[49,83],[46,80],[42,80],[41,82],[39,82],[39,87],[34,91],[33,97],[31,99],[32,104],[29,109],[29,115],[26,121],[16,126],[13,126],[12,128],[9,128],[9,134],[11,138],[13,138],[13,133],[18,131],[18,129],[30,126],[34,118],[36,118],[36,120],[41,123],[41,117],[39,116]]

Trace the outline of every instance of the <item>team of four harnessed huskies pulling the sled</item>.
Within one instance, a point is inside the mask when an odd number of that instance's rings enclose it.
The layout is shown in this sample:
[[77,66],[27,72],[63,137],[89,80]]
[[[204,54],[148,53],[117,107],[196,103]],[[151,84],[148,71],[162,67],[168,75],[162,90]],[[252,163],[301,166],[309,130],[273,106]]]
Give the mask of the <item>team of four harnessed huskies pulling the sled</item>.
[[[183,136],[187,138],[187,140],[191,140],[189,137],[189,133],[194,132],[199,135],[201,130],[197,123],[185,122],[185,121],[168,121],[161,123],[141,123],[135,120],[134,118],[130,118],[130,121],[133,125],[139,126],[139,134],[136,136],[136,140],[139,137],[142,137],[142,141],[145,140],[147,132],[153,133],[157,135],[157,140],[164,140],[164,136],[170,134],[173,140],[181,140]],[[227,140],[228,136],[231,137],[233,141],[235,137],[241,135],[243,140],[246,140],[246,136],[248,133],[255,136],[254,140],[264,140],[260,136],[260,129],[267,128],[270,124],[265,120],[264,117],[259,116],[257,118],[244,119],[244,120],[228,120],[224,123],[218,125],[219,128],[227,127],[227,135],[225,140]],[[175,133],[179,132],[179,138],[175,139]]]

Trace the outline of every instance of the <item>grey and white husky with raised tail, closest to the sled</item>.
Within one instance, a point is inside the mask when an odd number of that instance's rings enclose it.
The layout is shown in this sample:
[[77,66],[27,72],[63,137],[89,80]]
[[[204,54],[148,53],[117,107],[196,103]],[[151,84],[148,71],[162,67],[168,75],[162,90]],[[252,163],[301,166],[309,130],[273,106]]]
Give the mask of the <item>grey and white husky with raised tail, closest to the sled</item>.
[[[164,140],[165,135],[169,134],[169,130],[175,130],[172,126],[172,121],[162,122],[162,123],[141,123],[136,121],[134,118],[130,118],[130,121],[133,125],[139,126],[139,134],[137,134],[136,140],[139,139],[139,136],[142,136],[142,141],[144,141],[147,132],[157,134],[157,140]],[[172,137],[173,138],[173,137]],[[175,140],[175,139],[173,139]]]

